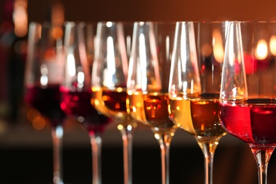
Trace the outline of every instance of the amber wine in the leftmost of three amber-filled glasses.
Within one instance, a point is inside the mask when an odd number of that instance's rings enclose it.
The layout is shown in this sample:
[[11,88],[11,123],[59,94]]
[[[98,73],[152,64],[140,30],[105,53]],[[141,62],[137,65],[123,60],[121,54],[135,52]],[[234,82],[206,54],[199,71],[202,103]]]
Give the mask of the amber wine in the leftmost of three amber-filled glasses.
[[125,88],[92,88],[92,105],[113,120],[119,120],[120,123],[129,122],[130,115],[127,113]]

